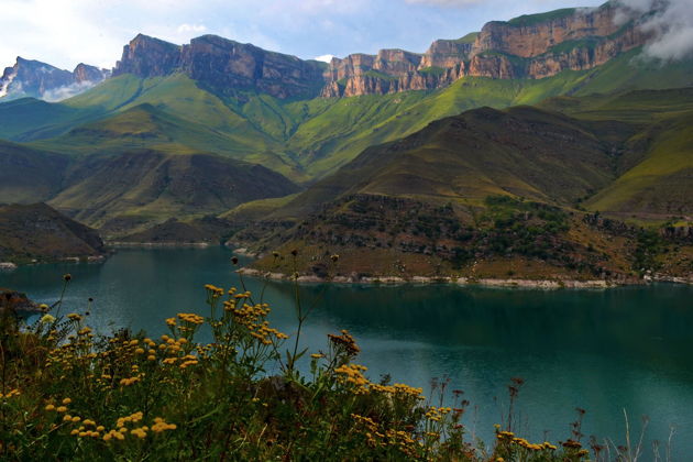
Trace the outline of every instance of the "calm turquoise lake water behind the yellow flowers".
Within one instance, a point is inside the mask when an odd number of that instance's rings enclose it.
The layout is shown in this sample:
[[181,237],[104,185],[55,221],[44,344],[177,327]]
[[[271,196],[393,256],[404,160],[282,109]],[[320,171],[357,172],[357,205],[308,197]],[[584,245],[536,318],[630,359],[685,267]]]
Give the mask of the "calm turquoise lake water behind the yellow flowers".
[[[69,311],[95,298],[90,324],[164,333],[164,319],[180,311],[206,314],[204,284],[239,285],[231,253],[209,250],[122,250],[105,264],[55,264],[0,273],[0,287],[55,300],[61,276],[72,273]],[[246,279],[258,294],[265,283]],[[293,286],[270,283],[272,321],[292,333]],[[305,286],[304,302],[318,299],[304,339],[310,351],[326,334],[349,329],[372,380],[424,387],[450,378],[449,389],[471,402],[466,424],[490,438],[507,407],[510,377],[526,381],[518,400],[522,433],[556,441],[569,437],[575,408],[586,409],[583,432],[632,439],[647,415],[650,441],[675,426],[674,460],[693,454],[693,287],[654,285],[609,290],[505,290],[433,286]],[[663,451],[662,451],[663,452]]]

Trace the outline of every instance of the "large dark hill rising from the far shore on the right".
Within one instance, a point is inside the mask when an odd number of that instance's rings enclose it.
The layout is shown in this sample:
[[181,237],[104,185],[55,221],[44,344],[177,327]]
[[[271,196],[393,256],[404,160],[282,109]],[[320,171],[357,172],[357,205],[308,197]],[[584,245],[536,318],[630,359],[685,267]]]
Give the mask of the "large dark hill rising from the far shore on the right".
[[[353,280],[690,278],[692,117],[693,88],[474,109],[365,150],[273,210],[258,201],[223,217],[250,220],[239,245],[298,250],[299,272],[317,277],[340,254]],[[634,218],[667,224],[623,221]],[[270,255],[256,267],[293,264]]]

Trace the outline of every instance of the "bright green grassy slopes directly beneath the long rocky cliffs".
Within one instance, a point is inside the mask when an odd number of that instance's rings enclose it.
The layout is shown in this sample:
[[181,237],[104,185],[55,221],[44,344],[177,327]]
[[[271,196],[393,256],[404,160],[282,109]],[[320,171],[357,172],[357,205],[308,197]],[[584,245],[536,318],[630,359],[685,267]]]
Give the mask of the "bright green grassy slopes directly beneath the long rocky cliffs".
[[[640,59],[635,50],[595,69],[539,80],[465,77],[437,91],[312,100],[278,100],[254,92],[229,98],[207,91],[182,74],[144,80],[123,75],[63,103],[23,100],[22,117],[0,136],[43,139],[37,144],[42,148],[90,153],[103,138],[97,133],[90,139],[81,127],[81,136],[75,138],[70,130],[88,120],[108,124],[109,118],[148,105],[177,125],[156,129],[161,132],[157,135],[175,145],[261,162],[295,180],[311,182],[336,172],[369,146],[415,133],[433,120],[464,110],[534,105],[560,95],[684,87],[692,84],[692,72],[691,61],[662,66]],[[18,110],[11,105],[18,102],[0,105],[0,119]],[[56,134],[63,136],[45,140]],[[124,135],[127,139],[128,133]],[[142,139],[135,141],[140,146],[151,145]],[[118,141],[110,144],[118,147]],[[174,153],[177,148],[165,151]]]

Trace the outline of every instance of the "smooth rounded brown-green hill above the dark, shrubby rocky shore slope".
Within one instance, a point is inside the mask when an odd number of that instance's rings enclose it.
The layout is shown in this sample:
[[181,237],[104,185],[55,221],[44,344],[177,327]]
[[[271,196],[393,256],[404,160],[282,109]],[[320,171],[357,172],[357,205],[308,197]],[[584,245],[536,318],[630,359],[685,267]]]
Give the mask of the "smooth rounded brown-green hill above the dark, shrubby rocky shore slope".
[[305,216],[354,194],[470,204],[512,195],[568,205],[614,179],[612,150],[588,123],[556,112],[482,108],[367,148],[276,216]]

